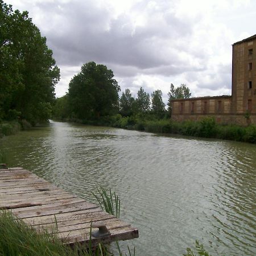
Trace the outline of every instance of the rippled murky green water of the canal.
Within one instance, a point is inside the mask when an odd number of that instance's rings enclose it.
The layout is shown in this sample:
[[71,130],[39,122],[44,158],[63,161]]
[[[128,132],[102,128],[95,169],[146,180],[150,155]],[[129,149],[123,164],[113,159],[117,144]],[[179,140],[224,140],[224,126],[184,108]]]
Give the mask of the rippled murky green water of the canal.
[[137,255],[182,255],[200,240],[212,255],[256,255],[256,145],[51,122],[0,140],[22,166],[92,200],[117,192],[139,229]]

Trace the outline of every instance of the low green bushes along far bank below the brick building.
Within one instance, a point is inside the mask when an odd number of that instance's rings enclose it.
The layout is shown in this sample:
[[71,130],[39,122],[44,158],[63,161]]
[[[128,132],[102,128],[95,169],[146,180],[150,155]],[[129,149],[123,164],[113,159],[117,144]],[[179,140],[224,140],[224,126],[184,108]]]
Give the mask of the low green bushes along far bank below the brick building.
[[180,134],[192,137],[227,139],[256,143],[256,126],[222,125],[217,123],[213,117],[207,117],[200,121],[176,122],[170,118],[156,119],[147,117],[122,117],[117,114],[102,117],[97,120],[88,121],[81,119],[64,119],[65,122],[77,122],[85,125],[110,126],[128,130],[147,131],[159,134]]

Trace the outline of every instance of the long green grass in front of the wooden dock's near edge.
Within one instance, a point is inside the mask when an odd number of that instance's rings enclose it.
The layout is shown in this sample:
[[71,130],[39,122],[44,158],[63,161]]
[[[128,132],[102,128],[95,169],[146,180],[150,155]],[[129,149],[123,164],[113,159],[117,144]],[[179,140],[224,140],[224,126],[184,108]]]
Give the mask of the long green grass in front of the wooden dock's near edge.
[[63,245],[54,234],[46,230],[37,233],[35,229],[16,219],[7,211],[0,212],[0,255],[26,256],[89,256],[109,255],[106,249],[99,245],[95,251],[82,245],[69,247]]

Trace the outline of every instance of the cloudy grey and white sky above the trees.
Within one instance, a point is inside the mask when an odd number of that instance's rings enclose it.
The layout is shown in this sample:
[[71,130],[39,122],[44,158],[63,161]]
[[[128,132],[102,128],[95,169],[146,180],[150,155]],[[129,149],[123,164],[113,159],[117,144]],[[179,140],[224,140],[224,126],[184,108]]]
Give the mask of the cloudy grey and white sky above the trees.
[[254,0],[6,0],[27,10],[60,68],[56,97],[82,64],[112,69],[137,96],[186,84],[192,97],[231,94],[232,44],[256,34]]

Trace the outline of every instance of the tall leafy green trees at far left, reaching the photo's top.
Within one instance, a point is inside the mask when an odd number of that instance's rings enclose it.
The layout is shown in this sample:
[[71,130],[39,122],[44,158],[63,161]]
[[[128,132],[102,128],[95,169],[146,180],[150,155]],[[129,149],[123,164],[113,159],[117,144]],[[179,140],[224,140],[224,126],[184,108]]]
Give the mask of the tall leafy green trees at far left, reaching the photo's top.
[[45,121],[59,68],[28,12],[0,3],[0,119]]

